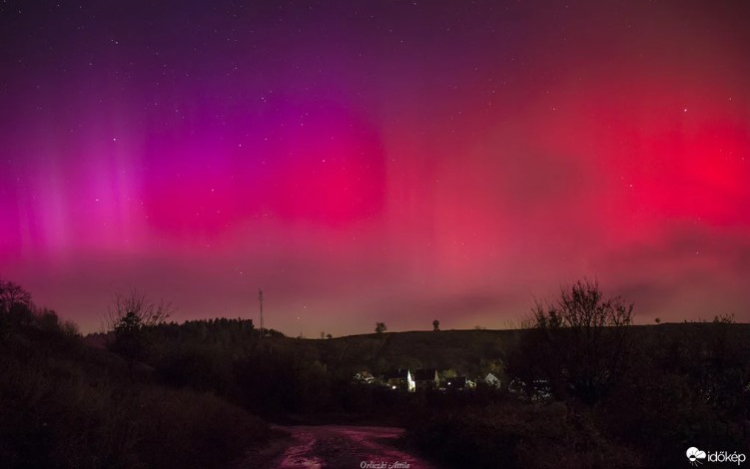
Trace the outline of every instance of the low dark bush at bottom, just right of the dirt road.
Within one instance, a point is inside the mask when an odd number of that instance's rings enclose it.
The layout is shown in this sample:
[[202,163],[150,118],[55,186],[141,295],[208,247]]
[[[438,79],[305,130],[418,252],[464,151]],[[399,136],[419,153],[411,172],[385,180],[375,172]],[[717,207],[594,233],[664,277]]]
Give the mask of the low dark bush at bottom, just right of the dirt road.
[[606,441],[591,416],[562,403],[517,402],[434,415],[407,428],[407,443],[450,467],[637,468],[628,448]]

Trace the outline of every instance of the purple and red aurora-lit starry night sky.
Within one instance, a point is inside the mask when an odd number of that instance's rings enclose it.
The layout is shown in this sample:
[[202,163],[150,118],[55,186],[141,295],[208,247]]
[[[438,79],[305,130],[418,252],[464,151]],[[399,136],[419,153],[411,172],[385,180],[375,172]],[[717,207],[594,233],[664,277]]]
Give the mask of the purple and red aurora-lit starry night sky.
[[750,320],[750,2],[0,3],[0,276],[316,337]]

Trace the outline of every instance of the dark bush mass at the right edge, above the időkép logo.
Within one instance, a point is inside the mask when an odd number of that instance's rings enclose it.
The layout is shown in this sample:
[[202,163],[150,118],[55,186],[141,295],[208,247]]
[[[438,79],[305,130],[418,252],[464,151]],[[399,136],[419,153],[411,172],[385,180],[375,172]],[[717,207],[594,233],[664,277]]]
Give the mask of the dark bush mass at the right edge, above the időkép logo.
[[720,320],[644,332],[626,381],[598,411],[602,428],[638,447],[655,468],[684,463],[684,453],[673,448],[747,453],[748,332]]

